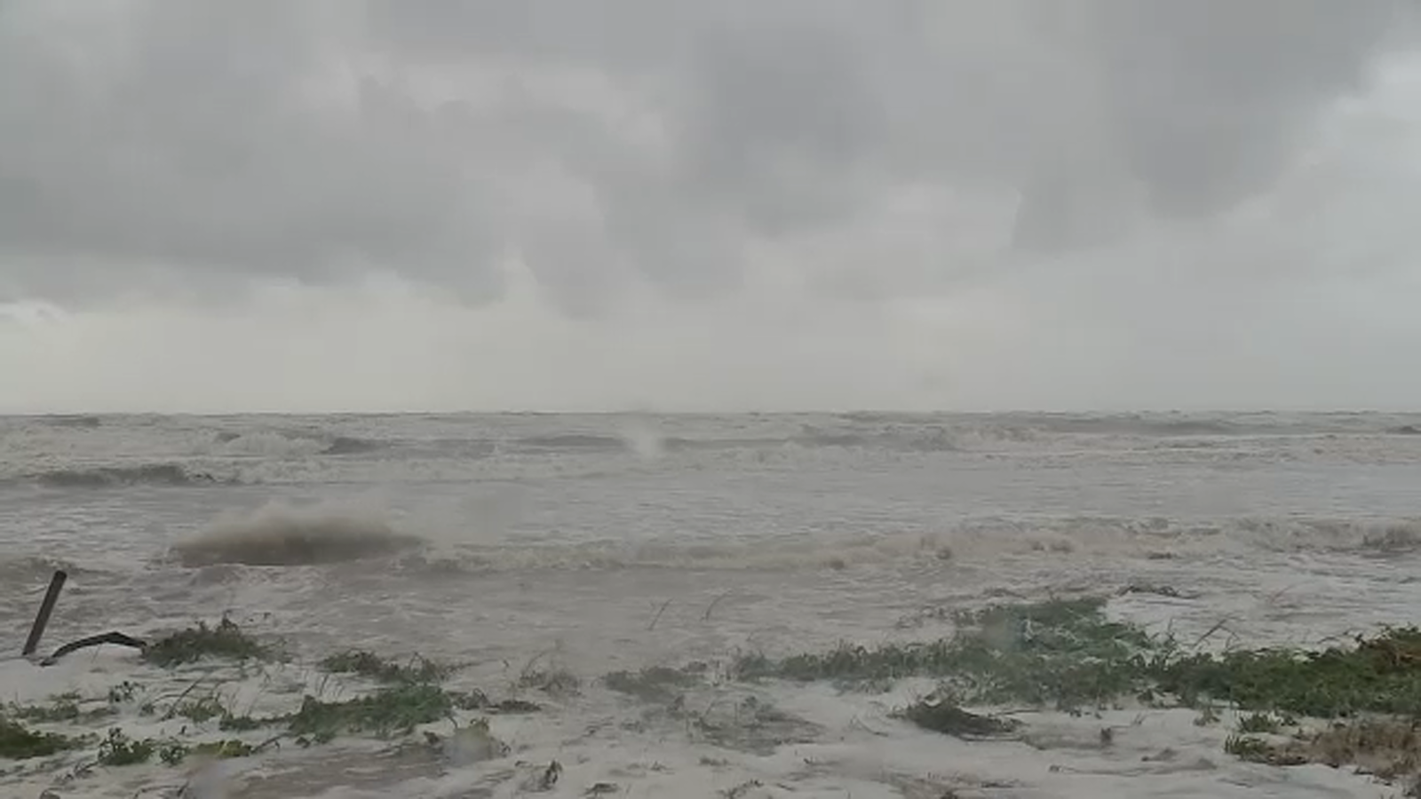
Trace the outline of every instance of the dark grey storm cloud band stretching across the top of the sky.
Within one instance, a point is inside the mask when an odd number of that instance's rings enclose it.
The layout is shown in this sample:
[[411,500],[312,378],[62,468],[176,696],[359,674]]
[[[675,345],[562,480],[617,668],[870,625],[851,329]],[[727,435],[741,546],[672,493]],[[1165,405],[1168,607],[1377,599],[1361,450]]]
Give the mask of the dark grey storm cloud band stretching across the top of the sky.
[[0,294],[389,269],[477,301],[516,249],[594,311],[625,274],[733,290],[750,242],[921,181],[1019,192],[1059,250],[1266,189],[1410,44],[1401,0],[55,6],[0,6]]

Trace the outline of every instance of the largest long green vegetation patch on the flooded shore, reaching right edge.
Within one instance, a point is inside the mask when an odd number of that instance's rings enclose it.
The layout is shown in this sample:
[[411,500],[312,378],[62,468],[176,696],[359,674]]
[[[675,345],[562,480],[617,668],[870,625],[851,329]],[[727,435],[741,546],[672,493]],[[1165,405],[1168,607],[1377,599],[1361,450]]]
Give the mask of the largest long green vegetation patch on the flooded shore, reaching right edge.
[[1076,709],[1124,697],[1151,704],[1312,718],[1360,712],[1421,715],[1421,631],[1388,628],[1354,647],[1187,653],[1172,637],[1104,616],[1104,600],[1052,600],[958,614],[955,636],[824,654],[742,657],[745,678],[882,680],[939,677],[965,702]]

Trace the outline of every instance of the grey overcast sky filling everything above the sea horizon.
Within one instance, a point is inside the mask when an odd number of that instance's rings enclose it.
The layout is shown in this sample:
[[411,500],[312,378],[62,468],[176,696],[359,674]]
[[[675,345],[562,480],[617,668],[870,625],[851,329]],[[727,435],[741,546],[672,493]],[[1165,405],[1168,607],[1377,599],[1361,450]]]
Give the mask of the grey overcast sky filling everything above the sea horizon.
[[0,0],[0,411],[1421,405],[1407,0]]

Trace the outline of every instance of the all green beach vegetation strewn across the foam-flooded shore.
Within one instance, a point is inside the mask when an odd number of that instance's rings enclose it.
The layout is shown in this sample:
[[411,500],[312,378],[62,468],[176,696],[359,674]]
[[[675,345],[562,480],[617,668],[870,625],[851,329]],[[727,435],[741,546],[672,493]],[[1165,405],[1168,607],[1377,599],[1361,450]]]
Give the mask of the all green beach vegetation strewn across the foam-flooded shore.
[[[1070,714],[1124,708],[1194,708],[1198,724],[1215,724],[1218,708],[1239,711],[1225,751],[1279,766],[1353,766],[1391,781],[1421,772],[1421,630],[1381,628],[1327,648],[1198,651],[1165,634],[1113,621],[1098,597],[1003,604],[956,613],[952,636],[921,643],[867,647],[841,644],[823,653],[733,658],[722,677],[737,682],[828,681],[844,688],[931,678],[931,695],[895,715],[924,729],[961,738],[1012,736],[1020,722],[966,708],[1032,707]],[[280,643],[259,640],[230,620],[199,624],[161,638],[144,660],[161,668],[200,661],[274,663]],[[141,701],[121,682],[107,697],[77,694],[47,702],[0,708],[0,758],[30,759],[92,751],[98,763],[122,766],[161,761],[180,763],[193,754],[247,756],[279,741],[310,746],[340,736],[399,738],[421,725],[456,719],[486,724],[499,712],[536,712],[523,699],[495,702],[480,691],[453,691],[445,681],[456,667],[419,655],[387,658],[364,650],[333,654],[317,668],[362,680],[371,688],[338,701],[304,694],[286,712],[237,712],[217,694],[185,691],[166,702],[162,718],[182,718],[207,735],[136,738],[118,725],[94,735],[94,725]],[[524,670],[522,687],[571,695],[577,678]],[[644,702],[672,702],[706,680],[705,664],[612,672],[600,684]],[[546,685],[544,685],[546,684]],[[141,705],[155,715],[153,701]],[[470,715],[473,714],[473,715]],[[216,731],[212,729],[216,721]],[[72,734],[63,728],[72,725]],[[87,725],[90,731],[80,731]],[[216,736],[213,736],[216,734]],[[256,734],[261,741],[233,738]],[[426,732],[426,736],[435,738]],[[1108,744],[1107,732],[1101,732]]]

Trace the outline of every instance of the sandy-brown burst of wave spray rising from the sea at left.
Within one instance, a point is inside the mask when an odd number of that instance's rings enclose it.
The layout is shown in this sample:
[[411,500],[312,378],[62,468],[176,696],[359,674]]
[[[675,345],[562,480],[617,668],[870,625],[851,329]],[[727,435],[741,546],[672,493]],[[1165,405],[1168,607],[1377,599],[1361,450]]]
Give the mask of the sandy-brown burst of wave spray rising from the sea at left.
[[267,505],[222,518],[169,550],[183,566],[314,566],[382,557],[423,546],[378,512]]

